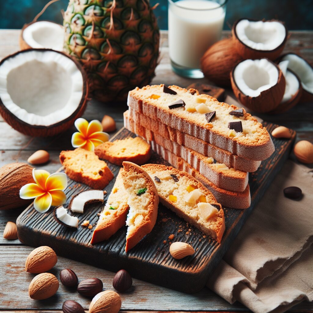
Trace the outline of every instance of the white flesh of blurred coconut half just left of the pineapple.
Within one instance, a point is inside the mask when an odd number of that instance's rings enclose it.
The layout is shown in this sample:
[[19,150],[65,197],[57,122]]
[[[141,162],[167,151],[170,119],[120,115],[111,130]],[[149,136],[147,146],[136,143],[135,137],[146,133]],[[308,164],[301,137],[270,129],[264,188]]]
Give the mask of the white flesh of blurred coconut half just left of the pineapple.
[[57,23],[40,21],[23,30],[24,41],[32,48],[46,48],[63,51],[64,27]]

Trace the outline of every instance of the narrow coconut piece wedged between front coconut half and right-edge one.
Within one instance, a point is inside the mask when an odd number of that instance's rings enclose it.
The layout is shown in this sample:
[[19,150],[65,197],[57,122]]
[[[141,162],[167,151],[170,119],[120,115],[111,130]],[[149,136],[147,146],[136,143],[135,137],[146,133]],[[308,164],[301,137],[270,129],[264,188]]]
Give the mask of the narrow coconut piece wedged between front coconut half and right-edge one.
[[286,80],[286,87],[283,99],[275,110],[270,113],[283,113],[295,106],[301,98],[302,87],[300,79],[295,73],[288,69],[289,61],[282,61],[279,64]]

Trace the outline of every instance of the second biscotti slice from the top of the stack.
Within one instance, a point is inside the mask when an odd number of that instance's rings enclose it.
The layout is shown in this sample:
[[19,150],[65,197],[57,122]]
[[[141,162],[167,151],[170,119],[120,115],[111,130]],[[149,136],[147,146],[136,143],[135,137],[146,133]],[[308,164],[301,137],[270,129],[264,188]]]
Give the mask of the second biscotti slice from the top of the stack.
[[[171,140],[173,142],[177,142],[178,144],[195,150],[204,156],[213,157],[214,160],[224,163],[228,167],[233,167],[239,171],[243,172],[255,172],[260,164],[261,161],[253,161],[249,159],[242,158],[235,154],[232,154],[229,151],[223,150],[216,146],[211,145],[208,142],[205,142],[201,139],[196,137],[190,136],[186,133],[178,131],[170,126],[167,126],[159,121],[155,121],[146,115],[140,114],[136,111],[133,111],[130,116],[129,111],[127,110],[124,112],[124,125],[125,119],[127,117],[132,118],[136,123],[139,123],[141,126],[153,131],[157,132],[162,137]],[[127,127],[126,127],[127,128]],[[152,139],[149,139],[152,140]]]

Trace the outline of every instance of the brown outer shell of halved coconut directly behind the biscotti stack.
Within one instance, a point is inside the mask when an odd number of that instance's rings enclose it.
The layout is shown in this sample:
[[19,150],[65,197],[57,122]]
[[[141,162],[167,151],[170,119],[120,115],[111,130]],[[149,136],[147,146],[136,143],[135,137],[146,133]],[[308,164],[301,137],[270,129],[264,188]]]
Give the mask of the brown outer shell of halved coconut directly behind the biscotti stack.
[[[271,62],[271,61],[269,61]],[[233,92],[236,96],[236,98],[246,107],[253,110],[254,112],[258,113],[266,113],[273,111],[277,108],[277,106],[280,104],[280,101],[283,99],[284,93],[285,93],[285,86],[286,81],[284,74],[282,73],[281,69],[273,62],[271,62],[277,70],[279,71],[278,74],[278,81],[276,85],[270,87],[267,90],[264,90],[260,93],[257,97],[250,97],[248,95],[245,95],[237,86],[236,81],[234,79],[234,70],[236,69],[236,66],[233,68],[233,70],[230,73],[230,80],[232,84]],[[238,65],[238,64],[237,64]]]

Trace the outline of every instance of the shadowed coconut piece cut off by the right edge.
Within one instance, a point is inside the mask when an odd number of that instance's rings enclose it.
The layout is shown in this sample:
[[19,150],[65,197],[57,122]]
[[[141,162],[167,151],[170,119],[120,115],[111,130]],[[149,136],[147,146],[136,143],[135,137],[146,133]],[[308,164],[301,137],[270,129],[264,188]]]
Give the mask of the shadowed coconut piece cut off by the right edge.
[[294,53],[284,54],[280,61],[289,61],[288,69],[293,71],[300,79],[302,85],[302,96],[300,101],[313,101],[313,68],[299,55]]

